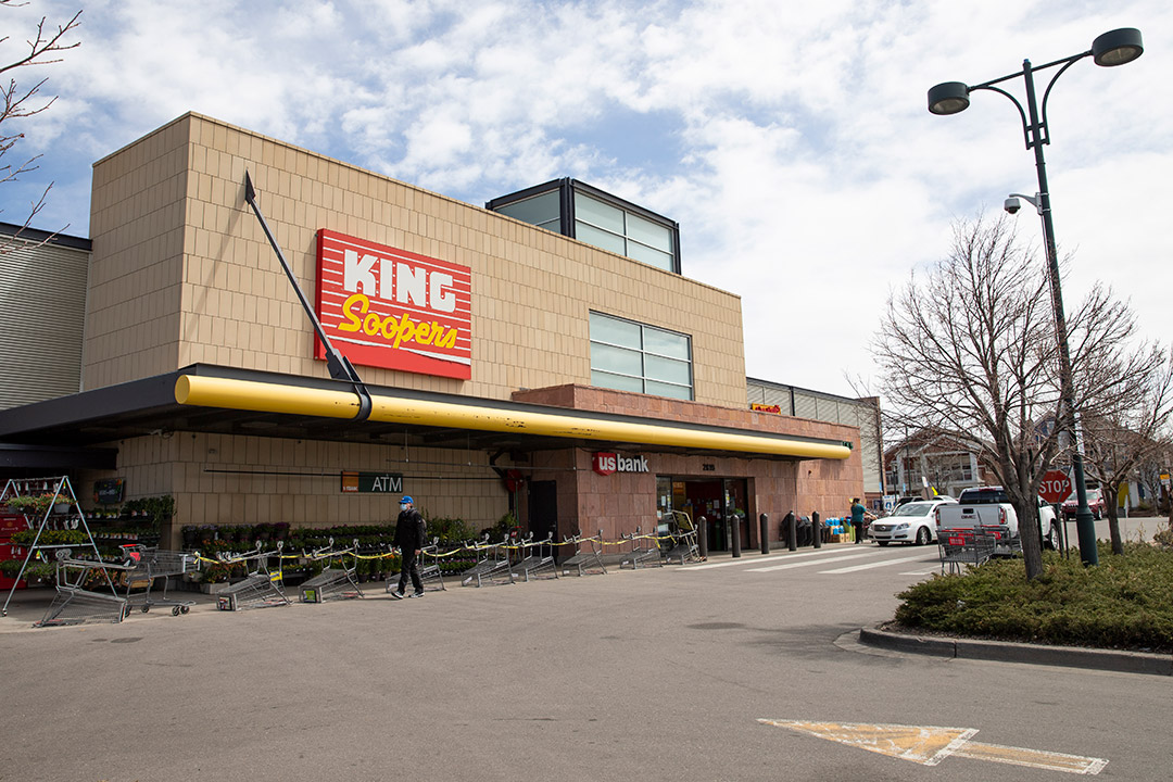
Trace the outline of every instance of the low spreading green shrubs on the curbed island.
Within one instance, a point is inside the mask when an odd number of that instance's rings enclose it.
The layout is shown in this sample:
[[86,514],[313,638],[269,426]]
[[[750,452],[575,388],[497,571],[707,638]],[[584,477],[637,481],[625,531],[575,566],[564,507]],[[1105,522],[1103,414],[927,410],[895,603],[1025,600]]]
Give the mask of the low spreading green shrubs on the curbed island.
[[1173,652],[1173,551],[1107,544],[1098,567],[1045,552],[1043,573],[1026,582],[1019,559],[994,560],[963,574],[935,576],[901,592],[896,621],[930,632]]

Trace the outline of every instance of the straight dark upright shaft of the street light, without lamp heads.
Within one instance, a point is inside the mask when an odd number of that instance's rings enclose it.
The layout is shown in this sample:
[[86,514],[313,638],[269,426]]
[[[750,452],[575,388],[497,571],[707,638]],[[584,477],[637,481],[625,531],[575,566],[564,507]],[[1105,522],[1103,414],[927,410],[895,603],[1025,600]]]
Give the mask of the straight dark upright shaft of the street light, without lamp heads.
[[1059,396],[1064,408],[1064,426],[1067,427],[1067,431],[1072,438],[1071,469],[1074,472],[1076,498],[1079,502],[1079,508],[1076,511],[1079,557],[1085,565],[1098,565],[1099,553],[1096,550],[1096,519],[1092,516],[1091,508],[1087,506],[1087,484],[1084,478],[1084,443],[1083,437],[1079,435],[1079,415],[1076,412],[1074,388],[1071,376],[1071,349],[1067,342],[1067,318],[1063,308],[1058,249],[1055,240],[1055,223],[1051,219],[1051,193],[1046,184],[1046,161],[1043,156],[1044,125],[1039,122],[1038,103],[1035,100],[1035,76],[1030,60],[1023,61],[1023,79],[1026,81],[1026,108],[1030,113],[1028,130],[1030,131],[1030,144],[1035,148],[1035,170],[1038,172],[1038,211],[1043,218],[1043,242],[1046,246],[1047,272],[1051,278],[1055,336],[1059,346]]

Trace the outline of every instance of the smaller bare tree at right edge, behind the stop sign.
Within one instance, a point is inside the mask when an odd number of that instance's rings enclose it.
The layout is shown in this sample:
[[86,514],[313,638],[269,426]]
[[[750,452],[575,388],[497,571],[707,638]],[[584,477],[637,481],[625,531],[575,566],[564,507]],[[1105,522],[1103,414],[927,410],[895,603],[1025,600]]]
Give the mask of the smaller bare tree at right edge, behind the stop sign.
[[[1084,468],[1100,484],[1112,551],[1124,553],[1117,509],[1120,487],[1141,463],[1173,444],[1173,353],[1150,345],[1105,360],[1096,375],[1125,374],[1135,381],[1104,401],[1092,390],[1083,415]],[[1094,378],[1086,380],[1094,389]]]

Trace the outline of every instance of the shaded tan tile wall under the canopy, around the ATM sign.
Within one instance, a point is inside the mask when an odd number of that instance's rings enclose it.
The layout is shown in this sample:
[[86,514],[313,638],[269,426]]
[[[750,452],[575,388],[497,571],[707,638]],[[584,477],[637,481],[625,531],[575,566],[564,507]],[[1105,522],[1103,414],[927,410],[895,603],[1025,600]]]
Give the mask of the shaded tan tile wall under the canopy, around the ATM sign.
[[[399,472],[426,517],[463,518],[474,530],[491,526],[508,510],[508,492],[481,451],[203,433],[113,444],[118,469],[87,474],[80,496],[93,495],[95,480],[114,476],[127,480],[127,499],[171,494],[172,537],[184,524],[331,526],[395,519],[399,495],[344,495],[343,470]],[[174,537],[172,545],[177,542]]]

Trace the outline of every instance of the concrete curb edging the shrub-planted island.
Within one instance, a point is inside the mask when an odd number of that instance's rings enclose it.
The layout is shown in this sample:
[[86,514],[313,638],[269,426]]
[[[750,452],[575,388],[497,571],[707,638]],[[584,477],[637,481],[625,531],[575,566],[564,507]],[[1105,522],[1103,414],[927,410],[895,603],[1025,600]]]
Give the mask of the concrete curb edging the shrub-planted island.
[[1173,654],[1090,650],[1080,646],[1039,646],[1011,641],[982,641],[964,638],[934,638],[880,630],[860,628],[860,642],[868,646],[963,660],[1056,665],[1118,673],[1173,675]]

